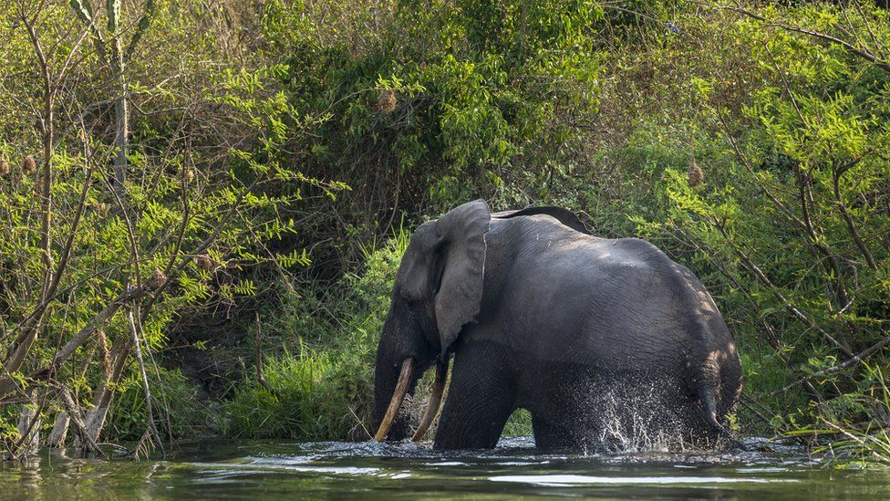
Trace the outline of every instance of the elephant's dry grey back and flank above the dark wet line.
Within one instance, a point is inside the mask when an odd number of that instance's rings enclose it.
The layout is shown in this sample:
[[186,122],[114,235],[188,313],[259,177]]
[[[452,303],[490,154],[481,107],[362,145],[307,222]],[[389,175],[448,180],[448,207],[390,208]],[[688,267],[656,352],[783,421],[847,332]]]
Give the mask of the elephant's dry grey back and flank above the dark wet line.
[[705,288],[655,245],[519,219],[529,221],[502,232],[514,250],[499,301],[513,349],[603,372],[684,371],[689,361],[730,350]]

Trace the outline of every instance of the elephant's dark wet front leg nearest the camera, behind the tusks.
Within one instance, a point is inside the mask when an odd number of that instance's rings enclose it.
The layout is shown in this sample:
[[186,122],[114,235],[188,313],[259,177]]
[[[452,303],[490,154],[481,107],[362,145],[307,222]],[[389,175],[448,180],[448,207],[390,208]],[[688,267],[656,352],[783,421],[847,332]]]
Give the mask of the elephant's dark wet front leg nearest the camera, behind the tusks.
[[515,408],[512,375],[492,345],[473,343],[455,354],[436,449],[491,449]]

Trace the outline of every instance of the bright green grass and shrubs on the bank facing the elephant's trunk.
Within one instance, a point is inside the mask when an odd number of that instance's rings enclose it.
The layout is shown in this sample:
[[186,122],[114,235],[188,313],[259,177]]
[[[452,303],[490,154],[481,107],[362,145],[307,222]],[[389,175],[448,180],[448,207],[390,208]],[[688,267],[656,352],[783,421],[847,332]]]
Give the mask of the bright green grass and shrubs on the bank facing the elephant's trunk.
[[[251,377],[234,389],[223,406],[223,435],[368,438],[377,340],[407,246],[408,235],[400,232],[377,251],[368,248],[365,272],[346,277],[336,301],[285,293],[284,308],[263,326],[285,346],[263,362],[269,388]],[[327,308],[336,309],[322,313]]]

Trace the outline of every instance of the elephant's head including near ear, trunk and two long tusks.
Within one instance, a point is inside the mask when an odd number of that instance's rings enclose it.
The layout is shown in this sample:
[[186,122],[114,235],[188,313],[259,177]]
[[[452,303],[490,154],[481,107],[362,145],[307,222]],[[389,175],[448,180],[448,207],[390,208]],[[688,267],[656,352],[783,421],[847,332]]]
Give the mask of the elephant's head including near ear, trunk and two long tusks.
[[[398,413],[423,371],[434,363],[436,381],[414,437],[418,440],[439,410],[448,350],[461,328],[479,313],[485,270],[485,234],[492,215],[484,200],[452,209],[419,226],[398,267],[375,371],[375,439],[400,440],[407,416]],[[438,360],[438,363],[437,363]]]

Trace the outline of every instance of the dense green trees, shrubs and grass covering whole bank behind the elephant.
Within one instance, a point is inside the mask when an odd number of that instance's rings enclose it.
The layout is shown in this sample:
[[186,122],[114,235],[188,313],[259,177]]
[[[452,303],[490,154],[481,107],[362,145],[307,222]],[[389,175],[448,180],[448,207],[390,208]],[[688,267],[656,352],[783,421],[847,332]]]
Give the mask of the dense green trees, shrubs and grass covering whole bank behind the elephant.
[[881,7],[20,0],[0,39],[7,455],[367,437],[410,228],[484,197],[659,245],[742,433],[890,464]]

